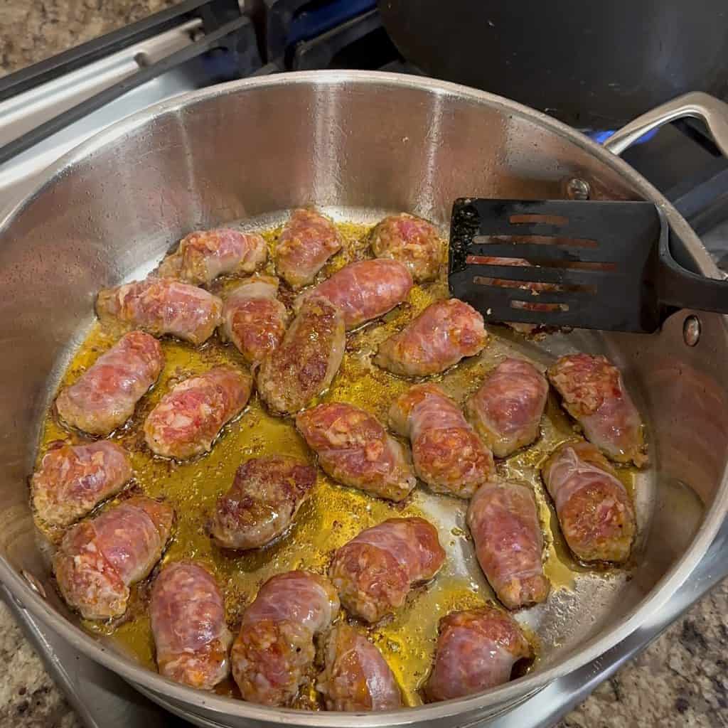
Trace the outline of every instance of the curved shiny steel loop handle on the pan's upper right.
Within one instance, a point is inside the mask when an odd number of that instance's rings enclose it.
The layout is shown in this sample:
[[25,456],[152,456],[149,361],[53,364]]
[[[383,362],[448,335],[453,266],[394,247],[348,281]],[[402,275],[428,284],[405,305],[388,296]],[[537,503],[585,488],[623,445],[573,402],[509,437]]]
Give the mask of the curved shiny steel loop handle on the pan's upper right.
[[728,157],[728,103],[702,91],[678,96],[638,116],[614,132],[604,142],[604,147],[614,154],[622,154],[642,135],[676,119],[684,119],[685,116],[700,119],[708,127],[724,157]]

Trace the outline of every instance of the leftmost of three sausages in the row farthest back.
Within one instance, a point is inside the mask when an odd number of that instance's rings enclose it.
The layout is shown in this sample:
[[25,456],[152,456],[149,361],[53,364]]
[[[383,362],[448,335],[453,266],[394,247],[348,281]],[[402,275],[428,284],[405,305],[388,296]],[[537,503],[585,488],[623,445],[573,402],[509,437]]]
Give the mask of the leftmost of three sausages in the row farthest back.
[[191,232],[159,266],[162,277],[209,283],[218,275],[252,273],[266,262],[266,241],[257,233],[230,228]]

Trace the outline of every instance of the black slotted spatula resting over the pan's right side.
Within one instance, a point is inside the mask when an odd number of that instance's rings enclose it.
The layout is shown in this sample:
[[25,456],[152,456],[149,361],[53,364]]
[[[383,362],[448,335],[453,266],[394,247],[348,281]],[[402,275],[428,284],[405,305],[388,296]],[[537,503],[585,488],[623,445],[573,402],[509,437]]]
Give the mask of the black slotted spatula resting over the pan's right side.
[[652,202],[457,199],[453,296],[486,321],[652,333],[677,309],[728,313],[728,281],[673,258]]

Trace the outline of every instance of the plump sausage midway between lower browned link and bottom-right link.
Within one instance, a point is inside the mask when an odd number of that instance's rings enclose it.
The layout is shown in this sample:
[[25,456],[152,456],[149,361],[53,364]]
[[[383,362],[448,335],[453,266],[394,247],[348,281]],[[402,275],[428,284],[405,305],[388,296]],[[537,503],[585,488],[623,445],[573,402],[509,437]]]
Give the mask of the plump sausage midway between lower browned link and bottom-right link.
[[412,585],[432,579],[444,561],[435,526],[424,518],[389,518],[339,548],[329,576],[351,614],[376,622],[402,606]]

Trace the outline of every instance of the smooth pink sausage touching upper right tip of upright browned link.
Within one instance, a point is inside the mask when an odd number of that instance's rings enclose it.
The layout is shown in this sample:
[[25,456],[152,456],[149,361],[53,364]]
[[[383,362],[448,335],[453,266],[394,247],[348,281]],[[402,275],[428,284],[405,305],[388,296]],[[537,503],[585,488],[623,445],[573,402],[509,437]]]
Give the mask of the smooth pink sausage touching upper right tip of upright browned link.
[[309,296],[328,298],[344,314],[347,331],[384,316],[406,301],[412,288],[407,268],[397,261],[376,259],[349,263],[293,304],[296,311]]

